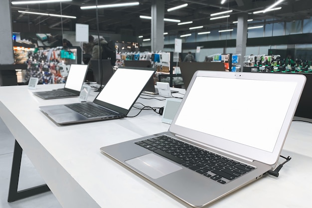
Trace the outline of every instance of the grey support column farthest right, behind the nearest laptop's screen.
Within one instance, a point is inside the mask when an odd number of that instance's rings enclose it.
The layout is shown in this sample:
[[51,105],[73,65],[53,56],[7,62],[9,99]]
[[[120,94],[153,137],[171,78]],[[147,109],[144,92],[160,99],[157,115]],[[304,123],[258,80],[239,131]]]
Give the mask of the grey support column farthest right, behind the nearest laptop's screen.
[[244,66],[244,56],[246,55],[246,43],[247,43],[247,14],[242,14],[238,17],[237,23],[237,37],[236,37],[236,53],[241,54],[237,65],[241,65],[241,71]]

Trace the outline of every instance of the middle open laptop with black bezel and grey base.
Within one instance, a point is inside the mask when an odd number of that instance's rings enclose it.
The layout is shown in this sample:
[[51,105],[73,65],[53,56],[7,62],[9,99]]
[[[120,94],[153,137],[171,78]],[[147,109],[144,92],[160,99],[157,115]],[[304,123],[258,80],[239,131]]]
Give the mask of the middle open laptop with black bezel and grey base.
[[[93,102],[49,105],[39,108],[58,125],[124,118],[142,93],[148,80],[154,75],[155,70],[119,67]],[[133,77],[136,81],[132,81]]]

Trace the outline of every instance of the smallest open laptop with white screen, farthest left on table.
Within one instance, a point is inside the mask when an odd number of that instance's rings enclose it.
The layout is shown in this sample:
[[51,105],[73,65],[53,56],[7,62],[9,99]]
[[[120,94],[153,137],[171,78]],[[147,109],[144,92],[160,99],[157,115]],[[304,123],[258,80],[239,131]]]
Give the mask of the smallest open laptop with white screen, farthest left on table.
[[85,80],[87,70],[88,65],[71,64],[63,89],[33,92],[33,94],[42,99],[78,97]]

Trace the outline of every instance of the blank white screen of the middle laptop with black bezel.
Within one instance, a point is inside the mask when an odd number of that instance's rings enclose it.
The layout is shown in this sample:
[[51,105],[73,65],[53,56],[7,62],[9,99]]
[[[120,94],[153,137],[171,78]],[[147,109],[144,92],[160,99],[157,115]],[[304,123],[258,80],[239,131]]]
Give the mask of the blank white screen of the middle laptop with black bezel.
[[96,99],[129,109],[154,73],[153,70],[118,68]]

